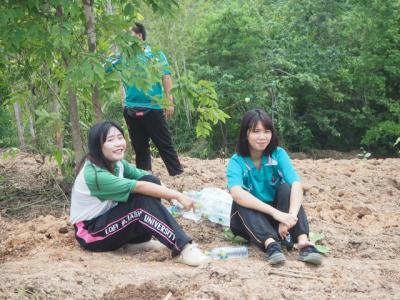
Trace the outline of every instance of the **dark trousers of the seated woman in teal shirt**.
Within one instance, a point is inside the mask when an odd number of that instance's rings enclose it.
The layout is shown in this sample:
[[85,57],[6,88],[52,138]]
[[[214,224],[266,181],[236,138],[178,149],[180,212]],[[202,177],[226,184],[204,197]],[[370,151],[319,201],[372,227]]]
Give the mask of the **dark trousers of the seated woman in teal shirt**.
[[[272,206],[282,212],[289,212],[290,206],[290,186],[287,183],[281,184],[275,195]],[[301,206],[297,215],[297,224],[289,230],[293,241],[301,234],[309,233],[307,216]],[[264,242],[268,238],[279,241],[279,222],[259,211],[243,207],[236,202],[232,203],[231,211],[231,230],[235,235],[239,235],[259,246],[265,251]]]

